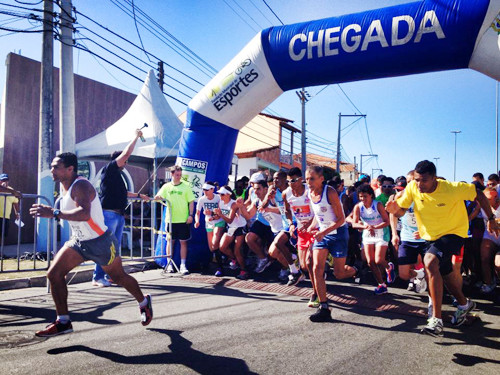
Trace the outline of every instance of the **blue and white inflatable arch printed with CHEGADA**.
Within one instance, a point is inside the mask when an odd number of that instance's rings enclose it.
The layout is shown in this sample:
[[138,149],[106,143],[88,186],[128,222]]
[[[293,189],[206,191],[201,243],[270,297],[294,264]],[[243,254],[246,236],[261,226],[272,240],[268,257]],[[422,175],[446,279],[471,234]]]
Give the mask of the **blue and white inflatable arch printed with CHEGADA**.
[[[238,130],[284,91],[462,68],[500,79],[500,0],[423,0],[265,29],[189,103],[177,164],[200,195],[205,179],[227,180]],[[195,235],[190,258],[205,243]]]

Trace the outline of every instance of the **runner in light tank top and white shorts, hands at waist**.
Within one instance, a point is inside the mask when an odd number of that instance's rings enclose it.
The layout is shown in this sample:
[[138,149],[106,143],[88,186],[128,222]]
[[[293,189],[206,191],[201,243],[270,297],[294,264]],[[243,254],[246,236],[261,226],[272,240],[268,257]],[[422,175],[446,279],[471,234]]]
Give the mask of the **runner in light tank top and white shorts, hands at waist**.
[[389,215],[383,204],[375,200],[375,192],[370,185],[358,188],[360,202],[354,207],[353,224],[355,229],[363,229],[362,241],[366,261],[378,283],[374,293],[387,293],[387,285],[383,280],[382,271],[387,272],[387,283],[396,278],[394,264],[385,260],[389,244]]

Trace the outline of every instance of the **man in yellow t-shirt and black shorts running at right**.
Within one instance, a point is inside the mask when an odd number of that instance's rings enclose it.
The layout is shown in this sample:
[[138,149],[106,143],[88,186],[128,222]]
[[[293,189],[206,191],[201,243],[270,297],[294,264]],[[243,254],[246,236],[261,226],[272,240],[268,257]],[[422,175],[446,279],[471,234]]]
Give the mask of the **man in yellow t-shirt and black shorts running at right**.
[[488,216],[488,231],[500,234],[488,200],[473,184],[437,179],[434,163],[424,160],[415,167],[415,179],[408,184],[403,196],[386,205],[386,210],[403,216],[414,203],[414,212],[420,237],[427,241],[424,265],[432,300],[432,317],[422,333],[443,335],[441,303],[443,280],[449,292],[457,299],[458,309],[452,324],[461,325],[476,304],[462,293],[462,276],[453,272],[452,257],[459,255],[467,237],[468,218],[464,201],[477,199]]

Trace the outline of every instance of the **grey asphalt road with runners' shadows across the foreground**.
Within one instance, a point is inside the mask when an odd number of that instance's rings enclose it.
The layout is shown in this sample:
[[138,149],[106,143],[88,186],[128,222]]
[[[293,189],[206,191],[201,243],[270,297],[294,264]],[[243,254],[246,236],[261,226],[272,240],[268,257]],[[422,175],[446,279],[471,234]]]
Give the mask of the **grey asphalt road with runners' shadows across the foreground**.
[[[332,323],[311,323],[302,288],[159,270],[137,273],[154,319],[119,287],[71,285],[72,334],[36,338],[54,318],[45,288],[0,293],[2,374],[498,374],[498,306],[445,336],[419,334],[426,298],[329,281]],[[270,292],[274,290],[274,292]],[[302,295],[302,297],[300,296]],[[448,313],[452,312],[447,307]]]

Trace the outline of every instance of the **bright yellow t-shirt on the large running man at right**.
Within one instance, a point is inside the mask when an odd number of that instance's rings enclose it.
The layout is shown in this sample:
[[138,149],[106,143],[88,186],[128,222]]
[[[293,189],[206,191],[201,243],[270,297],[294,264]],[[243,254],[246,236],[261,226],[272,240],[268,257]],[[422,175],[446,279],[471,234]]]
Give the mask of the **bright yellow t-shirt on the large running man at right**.
[[447,234],[467,237],[469,220],[464,201],[476,198],[476,187],[465,182],[438,180],[436,190],[421,193],[412,181],[397,200],[399,207],[409,208],[415,203],[414,211],[420,237],[435,241]]

